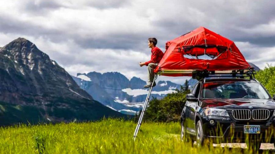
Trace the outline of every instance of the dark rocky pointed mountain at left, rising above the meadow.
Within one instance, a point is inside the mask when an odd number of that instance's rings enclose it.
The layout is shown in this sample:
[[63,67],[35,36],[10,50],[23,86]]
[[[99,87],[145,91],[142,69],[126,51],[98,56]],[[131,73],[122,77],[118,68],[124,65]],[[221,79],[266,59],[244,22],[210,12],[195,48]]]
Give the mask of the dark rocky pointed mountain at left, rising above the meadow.
[[64,68],[24,38],[0,49],[0,80],[0,125],[124,116],[95,101]]

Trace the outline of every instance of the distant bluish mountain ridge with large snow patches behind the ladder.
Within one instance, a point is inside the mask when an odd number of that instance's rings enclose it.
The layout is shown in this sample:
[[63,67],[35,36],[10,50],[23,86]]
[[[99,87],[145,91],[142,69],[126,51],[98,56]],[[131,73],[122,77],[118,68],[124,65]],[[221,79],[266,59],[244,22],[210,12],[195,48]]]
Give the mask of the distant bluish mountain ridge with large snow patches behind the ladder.
[[[148,89],[143,88],[145,81],[137,77],[129,80],[119,72],[78,73],[76,77],[72,77],[95,100],[122,113],[135,114],[139,111],[148,93]],[[175,92],[175,89],[180,89],[180,85],[159,81],[153,88],[151,99],[161,99],[167,93]]]

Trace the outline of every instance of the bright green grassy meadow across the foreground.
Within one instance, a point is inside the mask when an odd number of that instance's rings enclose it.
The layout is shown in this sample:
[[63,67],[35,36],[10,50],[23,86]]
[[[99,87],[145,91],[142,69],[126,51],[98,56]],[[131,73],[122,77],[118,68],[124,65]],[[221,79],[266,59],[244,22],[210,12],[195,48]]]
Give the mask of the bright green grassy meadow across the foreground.
[[192,147],[180,140],[179,123],[136,123],[118,119],[0,128],[1,153],[252,153],[251,149]]

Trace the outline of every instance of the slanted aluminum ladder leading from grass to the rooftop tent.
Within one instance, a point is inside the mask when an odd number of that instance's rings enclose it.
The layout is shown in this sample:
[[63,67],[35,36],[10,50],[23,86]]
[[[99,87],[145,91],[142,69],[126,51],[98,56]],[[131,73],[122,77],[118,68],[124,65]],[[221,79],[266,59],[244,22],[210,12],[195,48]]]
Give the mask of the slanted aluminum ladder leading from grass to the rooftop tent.
[[158,77],[158,75],[155,74],[153,83],[152,83],[152,85],[151,85],[151,87],[150,87],[150,89],[149,89],[149,92],[148,92],[148,94],[147,94],[147,97],[146,97],[144,106],[143,106],[143,108],[142,108],[140,117],[139,117],[139,119],[138,119],[138,125],[137,125],[137,127],[136,127],[136,130],[135,130],[135,132],[134,132],[134,137],[133,137],[134,140],[136,139],[136,137],[137,137],[137,135],[138,135],[138,131],[139,131],[139,128],[140,128],[140,126],[141,126],[141,122],[142,122],[142,120],[143,120],[143,117],[144,117],[144,114],[145,114],[145,110],[146,110],[146,108],[147,108],[147,106],[148,106],[148,103],[149,103],[149,98],[150,98],[150,95],[151,95],[151,92],[152,92],[152,89],[153,89],[153,84],[154,84],[155,80],[157,79],[157,77]]

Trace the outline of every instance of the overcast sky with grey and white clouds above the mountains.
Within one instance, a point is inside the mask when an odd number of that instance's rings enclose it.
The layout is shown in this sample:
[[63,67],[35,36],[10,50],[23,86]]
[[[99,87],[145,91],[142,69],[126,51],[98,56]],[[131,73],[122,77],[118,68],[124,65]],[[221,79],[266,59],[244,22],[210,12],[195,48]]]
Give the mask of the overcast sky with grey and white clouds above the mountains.
[[166,41],[204,26],[263,69],[275,63],[274,8],[273,0],[0,0],[0,47],[24,37],[71,75],[121,72],[147,80],[138,64],[150,59],[149,37],[164,52]]

